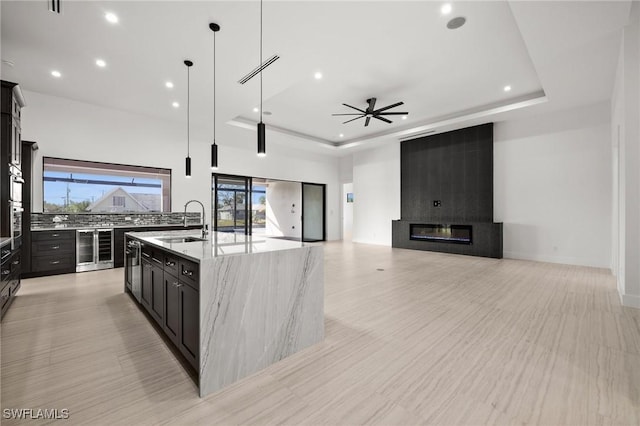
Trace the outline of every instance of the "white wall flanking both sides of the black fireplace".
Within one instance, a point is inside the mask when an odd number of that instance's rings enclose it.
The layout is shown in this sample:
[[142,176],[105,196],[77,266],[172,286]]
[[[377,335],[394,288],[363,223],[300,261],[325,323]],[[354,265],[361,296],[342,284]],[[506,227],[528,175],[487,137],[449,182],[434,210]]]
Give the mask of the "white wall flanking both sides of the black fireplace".
[[[608,104],[494,127],[494,220],[505,257],[610,267]],[[353,154],[353,241],[391,245],[399,142]]]

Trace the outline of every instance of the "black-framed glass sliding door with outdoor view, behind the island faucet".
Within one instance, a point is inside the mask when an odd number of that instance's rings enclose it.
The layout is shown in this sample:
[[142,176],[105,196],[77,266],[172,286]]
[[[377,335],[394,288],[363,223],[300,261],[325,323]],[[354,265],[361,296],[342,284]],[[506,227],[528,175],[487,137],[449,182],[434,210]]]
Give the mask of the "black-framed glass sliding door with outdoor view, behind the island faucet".
[[251,235],[251,178],[213,175],[213,230]]

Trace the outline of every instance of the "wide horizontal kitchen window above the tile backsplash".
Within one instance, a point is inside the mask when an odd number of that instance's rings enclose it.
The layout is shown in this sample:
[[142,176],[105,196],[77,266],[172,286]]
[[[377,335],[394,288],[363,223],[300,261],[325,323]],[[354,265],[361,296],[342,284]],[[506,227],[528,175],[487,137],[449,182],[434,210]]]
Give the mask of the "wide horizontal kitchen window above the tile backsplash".
[[45,213],[171,211],[171,170],[43,158]]

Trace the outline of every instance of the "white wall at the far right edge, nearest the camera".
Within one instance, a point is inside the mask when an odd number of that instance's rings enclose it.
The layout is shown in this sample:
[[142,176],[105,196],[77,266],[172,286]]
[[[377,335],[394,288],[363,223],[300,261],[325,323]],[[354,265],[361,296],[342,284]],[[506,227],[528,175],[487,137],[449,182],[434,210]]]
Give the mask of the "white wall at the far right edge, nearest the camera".
[[640,308],[640,5],[624,28],[612,102],[612,271],[624,305]]

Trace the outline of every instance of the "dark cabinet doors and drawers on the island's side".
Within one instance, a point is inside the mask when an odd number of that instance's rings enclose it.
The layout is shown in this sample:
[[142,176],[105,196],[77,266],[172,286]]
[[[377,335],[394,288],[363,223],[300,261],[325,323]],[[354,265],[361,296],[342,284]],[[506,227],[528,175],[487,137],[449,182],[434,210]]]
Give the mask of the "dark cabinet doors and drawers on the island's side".
[[141,264],[141,305],[197,370],[200,345],[198,263],[143,243]]

